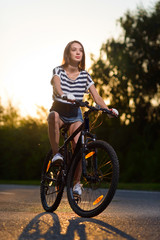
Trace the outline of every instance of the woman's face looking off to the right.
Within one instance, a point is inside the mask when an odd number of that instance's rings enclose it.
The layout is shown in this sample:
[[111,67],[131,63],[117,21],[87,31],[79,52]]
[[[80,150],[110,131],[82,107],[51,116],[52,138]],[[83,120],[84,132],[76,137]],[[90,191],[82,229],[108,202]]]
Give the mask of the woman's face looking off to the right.
[[83,48],[79,43],[72,43],[70,48],[70,61],[79,63],[83,57]]

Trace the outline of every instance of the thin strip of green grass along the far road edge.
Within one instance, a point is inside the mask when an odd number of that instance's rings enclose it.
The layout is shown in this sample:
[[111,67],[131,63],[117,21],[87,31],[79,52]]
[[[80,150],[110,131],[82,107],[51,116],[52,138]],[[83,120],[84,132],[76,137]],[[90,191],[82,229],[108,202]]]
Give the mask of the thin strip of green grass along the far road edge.
[[[40,180],[0,180],[0,184],[40,185]],[[119,183],[118,189],[160,191],[160,183]]]

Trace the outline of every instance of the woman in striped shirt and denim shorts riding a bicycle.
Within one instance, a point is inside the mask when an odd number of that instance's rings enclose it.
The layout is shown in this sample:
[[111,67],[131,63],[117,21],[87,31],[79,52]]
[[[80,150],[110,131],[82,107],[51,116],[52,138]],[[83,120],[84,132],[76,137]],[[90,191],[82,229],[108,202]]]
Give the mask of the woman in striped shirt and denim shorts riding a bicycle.
[[[87,71],[85,71],[85,52],[83,45],[79,41],[69,42],[64,50],[63,64],[53,69],[51,80],[53,85],[54,103],[48,116],[49,139],[53,151],[52,162],[63,161],[63,157],[58,153],[59,129],[64,123],[70,123],[69,134],[72,134],[82,123],[82,113],[80,108],[74,104],[75,100],[82,100],[83,95],[89,90],[94,101],[102,108],[107,108],[102,97],[98,94],[94,82]],[[64,100],[64,99],[68,99]],[[113,110],[116,115],[116,111]],[[79,134],[75,136],[72,147],[78,141]],[[74,191],[81,195],[80,186],[81,165],[77,166],[77,183]]]

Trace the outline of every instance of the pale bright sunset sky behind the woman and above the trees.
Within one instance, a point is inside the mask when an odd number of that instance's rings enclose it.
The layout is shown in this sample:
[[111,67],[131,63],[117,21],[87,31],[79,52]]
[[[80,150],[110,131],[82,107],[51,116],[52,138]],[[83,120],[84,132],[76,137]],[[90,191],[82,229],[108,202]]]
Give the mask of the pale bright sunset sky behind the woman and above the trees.
[[127,10],[149,10],[156,0],[0,0],[0,100],[21,115],[36,116],[52,104],[52,70],[68,42],[79,40],[99,56],[101,45],[121,33],[117,20]]

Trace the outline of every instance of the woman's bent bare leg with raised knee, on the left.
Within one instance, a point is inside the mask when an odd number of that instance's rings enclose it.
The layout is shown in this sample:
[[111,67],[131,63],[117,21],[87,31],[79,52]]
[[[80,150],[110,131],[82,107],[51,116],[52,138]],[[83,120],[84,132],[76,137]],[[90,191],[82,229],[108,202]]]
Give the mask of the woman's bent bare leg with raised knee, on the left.
[[63,121],[60,119],[57,112],[50,112],[48,116],[48,135],[50,144],[52,147],[53,155],[58,152],[60,127],[63,125]]

